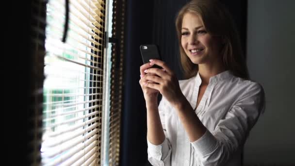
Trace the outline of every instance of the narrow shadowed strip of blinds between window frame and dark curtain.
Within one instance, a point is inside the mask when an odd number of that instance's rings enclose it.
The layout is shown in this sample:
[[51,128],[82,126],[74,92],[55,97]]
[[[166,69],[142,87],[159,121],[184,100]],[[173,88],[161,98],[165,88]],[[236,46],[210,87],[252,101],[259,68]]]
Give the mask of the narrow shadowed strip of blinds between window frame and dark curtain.
[[118,39],[112,45],[111,69],[111,98],[109,113],[109,165],[119,165],[121,111],[123,103],[123,64],[124,64],[124,27],[125,27],[125,0],[113,1],[112,37]]

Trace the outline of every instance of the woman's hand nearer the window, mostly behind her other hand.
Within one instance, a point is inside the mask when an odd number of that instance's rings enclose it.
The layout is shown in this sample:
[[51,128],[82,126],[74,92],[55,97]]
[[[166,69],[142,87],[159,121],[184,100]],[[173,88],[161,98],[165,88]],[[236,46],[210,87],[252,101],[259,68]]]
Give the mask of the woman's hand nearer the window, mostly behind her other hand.
[[145,97],[146,102],[158,104],[157,97],[158,97],[159,91],[156,89],[149,88],[148,86],[145,85],[145,83],[153,83],[152,81],[148,81],[147,79],[145,79],[145,76],[153,75],[153,74],[150,74],[150,73],[146,74],[144,72],[146,69],[150,68],[151,66],[153,66],[153,65],[150,65],[150,63],[146,63],[146,64],[140,66],[141,79],[139,80],[139,84],[140,84],[142,91],[144,93],[144,97]]

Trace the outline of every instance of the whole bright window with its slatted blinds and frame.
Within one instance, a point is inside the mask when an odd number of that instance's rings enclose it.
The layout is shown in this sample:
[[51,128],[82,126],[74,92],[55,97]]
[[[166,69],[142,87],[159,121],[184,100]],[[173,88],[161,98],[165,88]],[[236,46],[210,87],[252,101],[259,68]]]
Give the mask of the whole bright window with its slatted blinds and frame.
[[32,56],[43,84],[32,89],[32,165],[118,165],[124,0],[69,0],[67,31],[64,0],[32,2]]

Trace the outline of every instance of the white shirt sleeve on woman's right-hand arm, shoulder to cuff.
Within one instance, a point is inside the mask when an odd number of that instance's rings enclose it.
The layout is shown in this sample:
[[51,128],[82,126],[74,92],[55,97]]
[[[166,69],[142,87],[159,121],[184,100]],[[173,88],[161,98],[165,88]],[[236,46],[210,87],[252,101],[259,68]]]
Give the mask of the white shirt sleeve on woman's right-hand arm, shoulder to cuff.
[[214,131],[208,130],[192,146],[203,166],[222,166],[244,146],[246,137],[264,111],[264,91],[253,83],[231,107]]

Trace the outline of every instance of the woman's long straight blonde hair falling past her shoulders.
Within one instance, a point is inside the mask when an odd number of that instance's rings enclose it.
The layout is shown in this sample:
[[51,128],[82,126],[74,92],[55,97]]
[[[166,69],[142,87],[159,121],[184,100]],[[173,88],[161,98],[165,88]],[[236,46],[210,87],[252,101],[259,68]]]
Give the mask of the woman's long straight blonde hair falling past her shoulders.
[[191,0],[178,13],[175,25],[179,39],[180,62],[185,78],[196,76],[198,72],[198,65],[189,59],[181,46],[182,19],[186,13],[198,15],[201,17],[208,33],[222,37],[224,41],[222,60],[226,70],[230,70],[237,77],[249,79],[237,29],[229,11],[218,0]]

